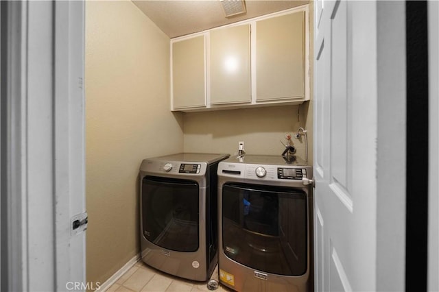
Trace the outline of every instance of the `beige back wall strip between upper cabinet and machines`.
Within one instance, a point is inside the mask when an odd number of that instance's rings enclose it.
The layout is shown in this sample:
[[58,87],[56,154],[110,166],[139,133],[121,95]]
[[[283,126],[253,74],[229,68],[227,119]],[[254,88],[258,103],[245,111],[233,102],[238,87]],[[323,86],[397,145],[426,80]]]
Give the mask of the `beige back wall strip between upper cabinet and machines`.
[[[247,154],[280,155],[286,143],[285,134],[305,127],[308,103],[300,106],[277,106],[241,110],[185,113],[184,149],[188,152],[226,152],[237,154],[238,142],[244,141]],[[300,113],[298,115],[298,112]],[[312,140],[310,131],[309,143]],[[305,159],[305,139],[292,138],[297,155]],[[312,149],[309,148],[312,162]]]

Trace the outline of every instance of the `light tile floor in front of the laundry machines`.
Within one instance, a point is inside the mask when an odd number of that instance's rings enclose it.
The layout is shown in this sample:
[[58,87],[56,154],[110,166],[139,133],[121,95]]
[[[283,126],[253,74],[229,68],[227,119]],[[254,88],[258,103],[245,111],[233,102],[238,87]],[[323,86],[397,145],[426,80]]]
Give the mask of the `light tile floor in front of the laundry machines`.
[[[217,268],[212,277],[217,280]],[[185,280],[167,273],[148,267],[142,261],[137,262],[106,291],[138,291],[138,292],[189,292],[210,291],[207,282]],[[230,292],[233,290],[219,284],[217,292]]]

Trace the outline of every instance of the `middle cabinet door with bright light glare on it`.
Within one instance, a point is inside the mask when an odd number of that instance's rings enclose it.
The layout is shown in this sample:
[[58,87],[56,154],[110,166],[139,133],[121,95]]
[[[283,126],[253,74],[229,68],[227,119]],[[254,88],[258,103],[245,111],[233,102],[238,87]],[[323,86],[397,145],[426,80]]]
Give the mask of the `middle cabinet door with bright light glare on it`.
[[211,104],[250,102],[250,24],[210,34]]

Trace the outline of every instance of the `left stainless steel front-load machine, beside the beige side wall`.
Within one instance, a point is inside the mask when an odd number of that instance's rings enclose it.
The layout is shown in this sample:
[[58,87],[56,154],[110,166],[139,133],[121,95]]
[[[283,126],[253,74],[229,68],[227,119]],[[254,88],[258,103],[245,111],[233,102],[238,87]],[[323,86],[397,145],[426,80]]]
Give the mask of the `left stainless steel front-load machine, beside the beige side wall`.
[[143,262],[182,278],[210,278],[217,264],[217,167],[228,157],[181,153],[143,160]]

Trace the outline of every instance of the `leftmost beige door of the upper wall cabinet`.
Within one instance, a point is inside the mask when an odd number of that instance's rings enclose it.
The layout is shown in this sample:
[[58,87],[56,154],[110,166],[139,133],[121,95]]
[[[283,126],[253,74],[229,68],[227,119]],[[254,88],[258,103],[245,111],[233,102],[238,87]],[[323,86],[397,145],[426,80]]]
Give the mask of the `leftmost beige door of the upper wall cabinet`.
[[204,35],[172,44],[172,108],[206,106]]

